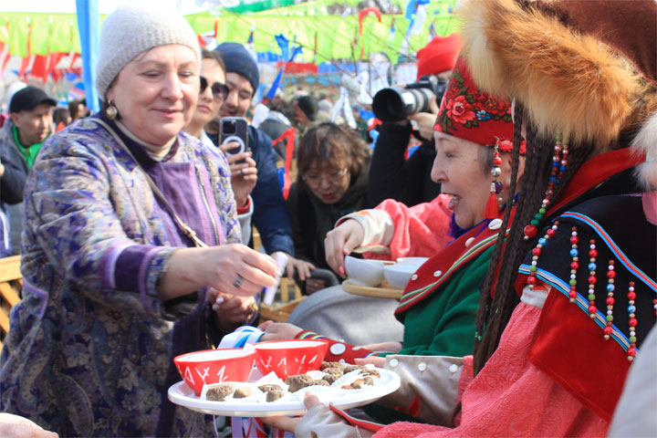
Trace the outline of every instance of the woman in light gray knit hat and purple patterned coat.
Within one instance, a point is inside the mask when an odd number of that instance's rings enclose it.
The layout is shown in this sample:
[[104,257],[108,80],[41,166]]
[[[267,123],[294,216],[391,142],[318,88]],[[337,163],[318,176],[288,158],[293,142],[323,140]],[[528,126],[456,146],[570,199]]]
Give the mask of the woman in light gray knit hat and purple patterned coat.
[[240,244],[224,156],[182,133],[199,58],[182,16],[126,5],[105,20],[102,110],[51,137],[26,184],[0,411],[62,435],[214,434],[167,400],[172,358],[249,322],[279,272]]

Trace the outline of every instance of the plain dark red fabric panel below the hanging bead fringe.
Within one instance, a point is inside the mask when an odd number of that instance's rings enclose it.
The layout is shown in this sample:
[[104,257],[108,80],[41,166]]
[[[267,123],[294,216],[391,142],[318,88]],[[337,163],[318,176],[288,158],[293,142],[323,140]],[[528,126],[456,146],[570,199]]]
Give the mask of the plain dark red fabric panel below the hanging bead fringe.
[[568,297],[557,291],[547,297],[527,359],[589,410],[611,421],[630,361]]

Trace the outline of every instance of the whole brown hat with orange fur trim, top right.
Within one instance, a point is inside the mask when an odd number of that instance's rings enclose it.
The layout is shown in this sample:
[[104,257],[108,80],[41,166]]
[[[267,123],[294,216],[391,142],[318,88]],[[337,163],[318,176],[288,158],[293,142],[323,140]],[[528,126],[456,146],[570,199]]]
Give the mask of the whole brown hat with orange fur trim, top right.
[[547,136],[607,149],[636,132],[639,176],[657,189],[654,0],[464,0],[458,13],[482,89],[523,102]]

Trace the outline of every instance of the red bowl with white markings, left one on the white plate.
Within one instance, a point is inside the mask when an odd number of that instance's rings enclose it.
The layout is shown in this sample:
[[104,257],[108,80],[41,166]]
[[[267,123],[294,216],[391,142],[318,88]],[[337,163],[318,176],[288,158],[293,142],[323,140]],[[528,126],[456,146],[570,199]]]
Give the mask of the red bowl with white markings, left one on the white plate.
[[255,362],[252,349],[204,349],[173,358],[178,372],[197,397],[203,385],[247,381]]

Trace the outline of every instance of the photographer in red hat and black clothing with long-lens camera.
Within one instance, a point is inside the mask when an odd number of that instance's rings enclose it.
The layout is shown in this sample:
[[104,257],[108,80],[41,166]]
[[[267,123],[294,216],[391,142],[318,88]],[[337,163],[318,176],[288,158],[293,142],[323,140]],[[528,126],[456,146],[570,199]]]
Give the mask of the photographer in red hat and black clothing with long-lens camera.
[[[431,180],[435,158],[433,125],[454,61],[461,49],[456,34],[435,36],[417,53],[418,81],[382,89],[372,101],[372,110],[382,121],[370,163],[368,200],[371,206],[394,199],[408,206],[430,202],[440,194],[440,184]],[[417,130],[411,124],[414,121]],[[411,136],[422,144],[406,160]]]

